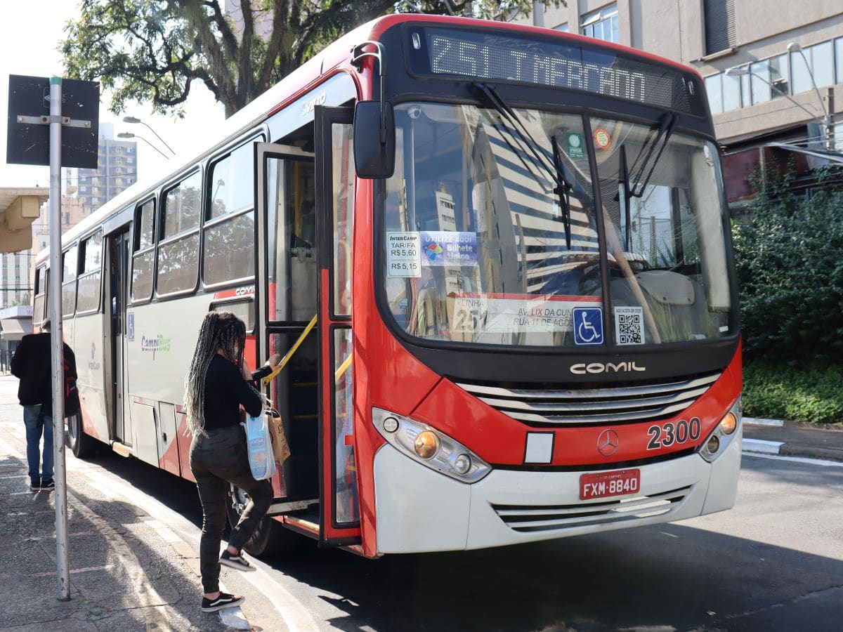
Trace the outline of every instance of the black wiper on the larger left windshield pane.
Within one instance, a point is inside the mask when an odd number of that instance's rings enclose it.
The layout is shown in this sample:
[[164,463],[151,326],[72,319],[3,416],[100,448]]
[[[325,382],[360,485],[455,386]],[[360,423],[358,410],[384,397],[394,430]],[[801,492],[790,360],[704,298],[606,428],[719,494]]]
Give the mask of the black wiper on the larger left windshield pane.
[[[533,158],[536,163],[539,163],[540,166],[545,169],[545,172],[550,175],[550,179],[556,184],[553,192],[556,193],[556,197],[559,201],[562,225],[565,228],[565,244],[567,249],[570,250],[571,191],[574,189],[574,185],[572,185],[572,179],[568,179],[566,177],[566,169],[564,163],[562,163],[561,150],[559,148],[559,143],[556,141],[556,136],[550,137],[550,143],[553,147],[553,164],[550,164],[550,161],[543,153],[540,152],[539,142],[537,142],[533,135],[529,133],[529,130],[527,129],[527,126],[524,125],[524,121],[521,120],[521,117],[518,116],[515,110],[507,104],[506,100],[498,94],[497,88],[489,85],[488,83],[482,83],[479,81],[475,81],[471,84],[471,86],[485,98],[486,102],[491,104],[491,106],[497,110],[497,113],[501,115],[502,121],[507,126],[507,131],[511,134],[514,132],[514,135],[518,136],[520,142],[529,149],[530,153],[533,154]],[[576,179],[573,179],[573,181],[576,182]],[[577,186],[577,190],[584,193],[582,187]]]

